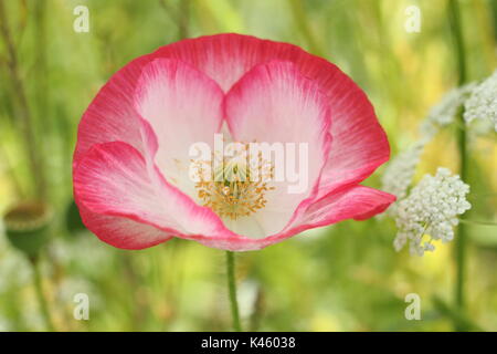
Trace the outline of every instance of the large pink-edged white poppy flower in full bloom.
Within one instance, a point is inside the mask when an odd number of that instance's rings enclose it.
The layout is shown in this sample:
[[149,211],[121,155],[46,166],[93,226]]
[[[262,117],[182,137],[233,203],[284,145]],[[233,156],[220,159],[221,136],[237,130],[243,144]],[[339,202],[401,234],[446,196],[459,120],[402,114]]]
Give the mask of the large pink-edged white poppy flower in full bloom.
[[[308,188],[224,184],[224,195],[194,183],[189,149],[220,132],[307,144]],[[292,44],[219,34],[159,48],[109,79],[78,126],[74,195],[86,227],[118,248],[178,237],[256,250],[384,211],[394,196],[360,183],[389,155],[371,103],[336,65]]]

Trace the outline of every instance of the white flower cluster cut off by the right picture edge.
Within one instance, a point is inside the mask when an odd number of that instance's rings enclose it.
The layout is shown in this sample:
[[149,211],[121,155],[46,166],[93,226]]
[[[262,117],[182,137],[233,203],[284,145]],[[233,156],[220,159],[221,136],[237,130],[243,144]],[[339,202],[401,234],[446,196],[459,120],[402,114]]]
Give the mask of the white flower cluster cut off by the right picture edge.
[[464,119],[487,119],[497,132],[497,71],[473,88],[472,95],[465,102]]

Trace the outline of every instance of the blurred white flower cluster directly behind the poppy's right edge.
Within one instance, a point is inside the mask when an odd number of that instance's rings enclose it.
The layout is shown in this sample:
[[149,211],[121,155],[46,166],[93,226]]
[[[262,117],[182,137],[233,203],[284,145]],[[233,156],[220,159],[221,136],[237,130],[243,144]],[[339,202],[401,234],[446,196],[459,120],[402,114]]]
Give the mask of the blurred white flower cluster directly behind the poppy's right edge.
[[[422,143],[416,143],[396,155],[389,163],[381,178],[382,190],[394,195],[398,200],[403,199],[408,195],[408,188],[411,186],[416,166],[420,163],[423,147],[424,145]],[[394,202],[387,212],[393,215],[396,205]]]

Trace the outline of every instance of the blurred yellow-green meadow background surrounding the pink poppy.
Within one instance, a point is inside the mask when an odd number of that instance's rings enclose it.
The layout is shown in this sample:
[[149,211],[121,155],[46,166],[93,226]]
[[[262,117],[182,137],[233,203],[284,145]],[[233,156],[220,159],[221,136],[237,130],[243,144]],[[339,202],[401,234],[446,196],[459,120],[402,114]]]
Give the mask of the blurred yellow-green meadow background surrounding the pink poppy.
[[[461,1],[472,81],[497,66],[496,2]],[[36,280],[57,331],[231,327],[223,251],[183,240],[124,251],[78,227],[71,179],[77,124],[98,88],[134,58],[184,37],[220,32],[300,45],[338,64],[367,92],[392,155],[419,138],[420,122],[457,82],[444,0],[0,3],[0,214],[33,198],[53,210],[50,240],[36,262],[13,248],[0,226],[0,331],[49,329]],[[73,30],[73,10],[81,4],[89,10],[87,33]],[[404,29],[405,9],[412,4],[422,11],[420,33]],[[454,129],[427,146],[416,180],[437,166],[458,169]],[[382,170],[367,184],[380,187]],[[472,185],[472,218],[495,220],[496,171],[496,140],[472,139],[466,180]],[[345,221],[240,253],[236,274],[245,329],[450,331],[463,323],[466,329],[497,330],[495,226],[468,226],[466,313],[452,305],[454,244],[411,257],[393,250],[395,232],[389,218]],[[88,321],[73,317],[75,293],[89,295]],[[421,296],[421,321],[404,317],[408,293]]]

